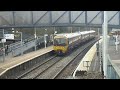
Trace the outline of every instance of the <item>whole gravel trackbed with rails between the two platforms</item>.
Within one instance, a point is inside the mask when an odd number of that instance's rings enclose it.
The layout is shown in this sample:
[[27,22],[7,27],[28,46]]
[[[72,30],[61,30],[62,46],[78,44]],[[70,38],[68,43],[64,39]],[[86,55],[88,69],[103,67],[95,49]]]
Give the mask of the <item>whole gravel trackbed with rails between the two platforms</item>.
[[[77,67],[77,64],[80,62],[80,60],[78,61],[76,58],[78,56],[79,57],[84,56],[92,45],[93,43],[90,44],[89,42],[87,43],[86,46],[84,46],[84,48],[80,47],[79,48],[80,51],[77,50],[79,53],[74,54],[71,53],[69,56],[65,57],[53,56],[52,58],[41,63],[40,65],[37,65],[36,67],[30,69],[29,71],[23,73],[16,79],[61,79],[63,77],[65,78],[69,75],[72,75],[73,71]],[[75,62],[77,62],[76,65],[73,64]]]

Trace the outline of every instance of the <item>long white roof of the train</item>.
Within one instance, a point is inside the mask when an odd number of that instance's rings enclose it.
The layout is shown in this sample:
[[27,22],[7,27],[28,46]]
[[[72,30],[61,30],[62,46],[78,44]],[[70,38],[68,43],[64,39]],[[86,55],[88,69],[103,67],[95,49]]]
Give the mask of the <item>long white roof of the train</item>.
[[76,36],[85,35],[85,34],[94,33],[94,32],[95,32],[94,30],[91,30],[91,31],[83,31],[83,32],[75,32],[75,33],[56,34],[55,38],[56,37],[73,38],[73,37],[76,37]]

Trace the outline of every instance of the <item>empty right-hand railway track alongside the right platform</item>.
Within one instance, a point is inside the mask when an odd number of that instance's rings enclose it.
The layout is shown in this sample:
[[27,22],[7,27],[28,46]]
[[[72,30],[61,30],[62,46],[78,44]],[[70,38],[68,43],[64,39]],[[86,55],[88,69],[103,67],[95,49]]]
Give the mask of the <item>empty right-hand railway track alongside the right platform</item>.
[[68,76],[72,76],[79,62],[93,44],[84,48],[78,53],[65,67],[63,67],[52,79],[65,79]]

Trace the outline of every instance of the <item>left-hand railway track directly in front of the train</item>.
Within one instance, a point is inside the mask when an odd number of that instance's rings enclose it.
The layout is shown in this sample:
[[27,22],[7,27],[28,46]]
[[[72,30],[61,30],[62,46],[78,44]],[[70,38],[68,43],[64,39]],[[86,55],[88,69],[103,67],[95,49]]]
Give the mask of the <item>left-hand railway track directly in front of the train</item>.
[[61,58],[62,57],[56,57],[56,55],[55,55],[55,56],[49,58],[48,60],[44,61],[43,63],[38,64],[35,67],[31,68],[27,72],[18,76],[16,79],[35,79],[39,74],[42,74],[45,70],[52,67]]

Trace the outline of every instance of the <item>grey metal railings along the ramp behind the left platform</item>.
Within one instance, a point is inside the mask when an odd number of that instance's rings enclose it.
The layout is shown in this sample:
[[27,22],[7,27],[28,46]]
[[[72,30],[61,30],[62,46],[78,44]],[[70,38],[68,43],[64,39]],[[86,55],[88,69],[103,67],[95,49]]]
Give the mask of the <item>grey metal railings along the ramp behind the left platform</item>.
[[[34,51],[35,46],[37,46],[37,49],[42,48],[42,46],[44,47],[44,36],[38,36],[36,39],[34,37],[31,37],[23,40],[22,47],[21,47],[21,41],[8,45],[8,49],[6,52],[7,54],[5,57],[12,58],[14,56],[21,55],[21,52],[28,53]],[[0,48],[0,61],[2,60],[3,60],[3,49]]]

